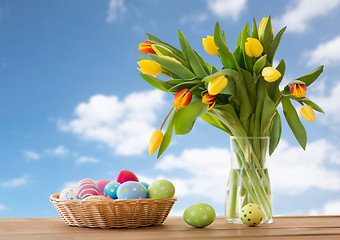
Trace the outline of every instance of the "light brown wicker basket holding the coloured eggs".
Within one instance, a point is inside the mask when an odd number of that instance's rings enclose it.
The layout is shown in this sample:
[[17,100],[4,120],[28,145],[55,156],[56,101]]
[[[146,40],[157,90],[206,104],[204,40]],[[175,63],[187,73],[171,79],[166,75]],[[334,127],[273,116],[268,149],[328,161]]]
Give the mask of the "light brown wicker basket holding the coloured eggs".
[[161,225],[177,198],[115,201],[61,200],[52,194],[51,203],[65,223],[78,227],[136,228]]

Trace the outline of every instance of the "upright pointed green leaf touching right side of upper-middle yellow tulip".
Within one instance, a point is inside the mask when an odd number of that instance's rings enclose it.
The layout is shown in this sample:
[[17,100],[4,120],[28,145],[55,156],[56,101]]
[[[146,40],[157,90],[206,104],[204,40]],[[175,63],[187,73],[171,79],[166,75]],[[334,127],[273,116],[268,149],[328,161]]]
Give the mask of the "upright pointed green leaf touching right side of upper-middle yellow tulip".
[[231,69],[238,69],[238,65],[236,62],[236,59],[232,52],[230,51],[227,43],[224,41],[220,24],[217,22],[215,25],[215,31],[214,31],[214,40],[215,44],[218,47],[218,55],[221,58],[222,64],[226,68],[231,68]]

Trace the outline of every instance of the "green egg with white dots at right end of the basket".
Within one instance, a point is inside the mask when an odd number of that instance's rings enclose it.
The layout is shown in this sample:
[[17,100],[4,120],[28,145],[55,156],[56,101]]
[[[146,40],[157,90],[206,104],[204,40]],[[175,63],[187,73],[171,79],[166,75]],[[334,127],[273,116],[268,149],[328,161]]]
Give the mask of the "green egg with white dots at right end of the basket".
[[148,188],[150,198],[171,198],[175,195],[175,187],[169,180],[157,180]]

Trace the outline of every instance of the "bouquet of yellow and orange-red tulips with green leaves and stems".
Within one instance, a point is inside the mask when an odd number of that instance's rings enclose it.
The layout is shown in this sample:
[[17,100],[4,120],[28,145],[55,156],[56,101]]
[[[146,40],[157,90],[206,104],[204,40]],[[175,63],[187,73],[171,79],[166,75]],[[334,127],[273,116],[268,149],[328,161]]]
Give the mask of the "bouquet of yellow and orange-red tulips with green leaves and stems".
[[[303,149],[307,134],[292,101],[302,105],[300,115],[307,121],[314,121],[314,110],[323,113],[306,97],[307,87],[322,73],[323,66],[279,88],[285,62],[281,60],[275,68],[272,65],[285,29],[274,37],[270,16],[263,18],[259,27],[254,18],[252,29],[248,23],[245,25],[232,52],[217,22],[214,36],[203,38],[202,43],[208,54],[219,57],[222,69],[205,62],[181,31],[178,32],[180,50],[150,34],[147,34],[148,40],[139,45],[139,50],[150,57],[141,56],[138,65],[143,73],[140,76],[153,87],[174,94],[173,106],[160,129],[151,136],[149,153],[159,148],[158,157],[161,156],[170,144],[173,131],[177,135],[189,133],[200,117],[237,137],[234,147],[240,168],[260,169],[246,174],[231,172],[231,186],[239,180],[242,182],[243,203],[236,203],[231,193],[226,212],[230,218],[237,217],[236,208],[248,202],[262,206],[267,219],[272,217],[269,179],[263,165],[265,154],[272,154],[280,141],[282,127],[278,106],[282,104],[285,119]],[[170,79],[161,80],[157,78],[159,74]],[[163,135],[162,128],[170,115]],[[249,137],[270,137],[270,140],[269,144],[256,139],[244,140]],[[240,187],[235,186],[231,189],[239,191]]]

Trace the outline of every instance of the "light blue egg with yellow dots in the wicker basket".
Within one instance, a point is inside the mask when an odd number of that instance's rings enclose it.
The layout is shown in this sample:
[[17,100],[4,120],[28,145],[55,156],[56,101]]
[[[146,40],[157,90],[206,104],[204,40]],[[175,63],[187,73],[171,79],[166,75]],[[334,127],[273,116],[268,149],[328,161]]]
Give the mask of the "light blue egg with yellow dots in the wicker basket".
[[118,190],[118,199],[142,199],[146,198],[147,190],[140,182],[129,181],[122,183]]

